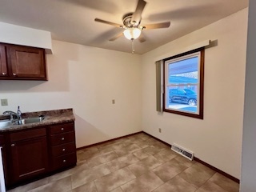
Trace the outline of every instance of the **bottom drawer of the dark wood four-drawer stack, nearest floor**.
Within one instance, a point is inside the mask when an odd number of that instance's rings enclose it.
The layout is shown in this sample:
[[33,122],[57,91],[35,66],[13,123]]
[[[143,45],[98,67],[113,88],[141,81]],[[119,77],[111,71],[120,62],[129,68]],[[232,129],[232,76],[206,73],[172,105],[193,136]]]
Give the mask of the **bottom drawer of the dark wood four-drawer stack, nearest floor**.
[[52,160],[52,170],[58,170],[67,166],[75,166],[77,162],[76,153],[66,154]]

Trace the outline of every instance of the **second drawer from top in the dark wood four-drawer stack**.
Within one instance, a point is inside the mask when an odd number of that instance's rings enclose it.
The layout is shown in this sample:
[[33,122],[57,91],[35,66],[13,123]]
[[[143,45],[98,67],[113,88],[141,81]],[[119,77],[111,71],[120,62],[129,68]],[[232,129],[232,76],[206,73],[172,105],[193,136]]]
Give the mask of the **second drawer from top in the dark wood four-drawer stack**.
[[50,136],[51,146],[58,146],[67,142],[74,142],[74,132],[68,132],[65,134],[54,134]]

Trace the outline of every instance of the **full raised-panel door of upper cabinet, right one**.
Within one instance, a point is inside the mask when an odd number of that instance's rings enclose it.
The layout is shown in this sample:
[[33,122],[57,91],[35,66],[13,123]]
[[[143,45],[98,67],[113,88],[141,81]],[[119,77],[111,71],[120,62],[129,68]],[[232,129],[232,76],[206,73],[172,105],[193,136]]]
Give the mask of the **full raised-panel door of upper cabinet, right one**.
[[8,46],[11,72],[17,79],[46,80],[45,51],[27,46]]

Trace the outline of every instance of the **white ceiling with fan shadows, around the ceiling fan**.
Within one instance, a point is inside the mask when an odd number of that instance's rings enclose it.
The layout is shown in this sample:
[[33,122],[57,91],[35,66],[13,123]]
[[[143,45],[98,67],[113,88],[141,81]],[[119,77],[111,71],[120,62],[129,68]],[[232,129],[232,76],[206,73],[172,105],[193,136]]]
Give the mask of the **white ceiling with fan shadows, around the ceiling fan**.
[[[146,0],[141,24],[170,21],[170,28],[144,30],[146,42],[135,42],[144,54],[248,6],[249,0]],[[86,46],[131,52],[124,38],[108,41],[122,29],[94,22],[101,18],[122,24],[134,12],[137,0],[0,0],[0,22],[48,30],[52,38]]]

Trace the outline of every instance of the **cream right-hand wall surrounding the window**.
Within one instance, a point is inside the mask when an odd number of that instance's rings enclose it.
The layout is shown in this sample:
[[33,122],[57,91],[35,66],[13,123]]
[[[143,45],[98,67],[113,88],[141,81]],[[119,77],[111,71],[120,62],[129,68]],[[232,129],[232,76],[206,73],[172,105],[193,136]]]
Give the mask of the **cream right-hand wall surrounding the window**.
[[[194,151],[197,158],[240,178],[248,10],[241,10],[142,56],[142,130]],[[204,119],[155,110],[155,64],[161,55],[202,42],[206,49]],[[158,133],[162,128],[162,133]]]

